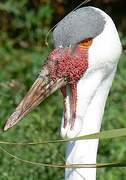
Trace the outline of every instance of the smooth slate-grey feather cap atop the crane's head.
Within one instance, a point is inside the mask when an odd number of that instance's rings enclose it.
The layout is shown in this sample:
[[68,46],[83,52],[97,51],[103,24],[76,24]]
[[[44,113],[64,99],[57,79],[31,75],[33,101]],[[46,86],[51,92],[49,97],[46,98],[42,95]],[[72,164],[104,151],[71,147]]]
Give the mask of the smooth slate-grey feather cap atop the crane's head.
[[83,7],[68,14],[53,31],[55,47],[75,45],[99,35],[105,25],[104,16],[93,7]]

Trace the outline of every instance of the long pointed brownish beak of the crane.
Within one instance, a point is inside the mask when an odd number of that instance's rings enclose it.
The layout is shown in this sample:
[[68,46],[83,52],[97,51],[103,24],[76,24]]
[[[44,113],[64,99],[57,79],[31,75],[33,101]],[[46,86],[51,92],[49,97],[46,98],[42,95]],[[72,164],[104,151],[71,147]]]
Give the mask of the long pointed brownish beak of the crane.
[[7,120],[4,131],[13,127],[36,106],[38,106],[46,97],[51,95],[60,87],[66,84],[63,78],[51,79],[48,65],[44,65],[39,77],[36,79],[27,95],[17,106],[14,113]]

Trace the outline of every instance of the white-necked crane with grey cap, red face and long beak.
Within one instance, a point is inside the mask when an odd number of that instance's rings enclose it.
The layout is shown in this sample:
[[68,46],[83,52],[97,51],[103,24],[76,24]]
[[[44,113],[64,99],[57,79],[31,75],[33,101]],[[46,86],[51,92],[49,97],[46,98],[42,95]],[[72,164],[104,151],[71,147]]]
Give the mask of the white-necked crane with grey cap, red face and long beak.
[[[77,85],[77,103],[74,111],[71,112],[71,86],[66,81],[71,76],[68,72],[69,67],[64,67],[69,77],[64,77],[62,63],[67,60],[74,65],[74,70],[78,72],[78,67],[74,63],[76,51],[74,48],[81,41],[91,38],[92,44],[89,49],[80,48],[84,55],[85,61],[88,60],[88,68],[82,74]],[[61,135],[62,137],[76,137],[100,131],[102,116],[106,99],[112,85],[116,72],[118,60],[121,54],[121,43],[116,27],[112,19],[102,10],[94,7],[84,7],[70,13],[66,16],[54,30],[54,43],[56,49],[48,58],[47,64],[44,65],[39,77],[32,85],[28,94],[16,108],[16,111],[8,119],[4,130],[15,125],[34,107],[39,105],[51,93],[58,88],[66,86],[66,120],[62,118]],[[72,47],[74,47],[72,49]],[[83,51],[83,52],[82,52]],[[61,54],[58,54],[61,52]],[[69,54],[69,56],[66,54]],[[82,55],[80,54],[80,55]],[[69,59],[67,59],[69,57]],[[73,58],[73,59],[72,59]],[[87,58],[87,59],[86,59]],[[77,60],[77,58],[76,58]],[[82,62],[78,58],[79,62]],[[78,63],[78,61],[76,61]],[[79,66],[79,65],[78,65]],[[79,66],[80,67],[80,66]],[[86,67],[86,66],[85,66]],[[65,69],[66,68],[66,69]],[[73,73],[71,71],[71,73]],[[74,84],[75,85],[75,84]],[[74,97],[74,96],[73,96]],[[75,105],[74,104],[74,105]],[[72,113],[76,113],[75,122],[72,124]],[[81,140],[70,142],[66,150],[67,164],[95,164],[97,158],[98,140]],[[66,169],[65,180],[95,180],[96,169]]]

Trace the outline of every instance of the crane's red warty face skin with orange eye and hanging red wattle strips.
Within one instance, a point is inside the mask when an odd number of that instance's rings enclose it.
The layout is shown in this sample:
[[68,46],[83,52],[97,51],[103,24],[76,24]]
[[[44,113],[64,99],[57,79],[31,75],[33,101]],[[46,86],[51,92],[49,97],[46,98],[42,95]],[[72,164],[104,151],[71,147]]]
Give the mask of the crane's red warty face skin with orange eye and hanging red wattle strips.
[[[74,127],[77,106],[77,82],[88,68],[88,48],[92,40],[81,42],[74,51],[69,48],[57,48],[49,56],[48,66],[53,81],[65,78],[71,88],[71,129]],[[64,128],[67,125],[66,87],[61,88],[64,97]]]

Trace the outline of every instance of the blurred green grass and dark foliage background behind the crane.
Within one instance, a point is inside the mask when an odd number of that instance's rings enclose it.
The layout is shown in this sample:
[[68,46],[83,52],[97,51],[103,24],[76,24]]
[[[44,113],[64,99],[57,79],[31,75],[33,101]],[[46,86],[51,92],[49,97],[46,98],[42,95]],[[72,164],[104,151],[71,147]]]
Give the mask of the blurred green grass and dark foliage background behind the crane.
[[[45,45],[49,29],[82,0],[0,0],[0,128],[38,75],[52,48]],[[126,1],[94,0],[114,20],[124,52],[109,94],[102,130],[126,127]],[[59,101],[60,100],[60,101]],[[58,91],[0,141],[39,141],[60,138],[62,96]],[[65,144],[37,146],[0,145],[18,157],[41,163],[64,163]],[[126,161],[125,138],[100,141],[98,162]],[[0,180],[61,180],[63,169],[24,164],[0,152]],[[98,169],[98,180],[125,180],[125,168]]]

